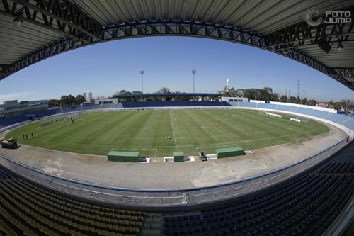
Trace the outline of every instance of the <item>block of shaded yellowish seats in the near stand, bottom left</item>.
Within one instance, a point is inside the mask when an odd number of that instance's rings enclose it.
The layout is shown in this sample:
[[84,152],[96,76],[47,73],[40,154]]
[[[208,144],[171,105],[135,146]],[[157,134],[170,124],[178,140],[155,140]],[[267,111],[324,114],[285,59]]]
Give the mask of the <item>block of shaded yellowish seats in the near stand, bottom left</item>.
[[0,235],[139,235],[144,215],[77,201],[0,167]]

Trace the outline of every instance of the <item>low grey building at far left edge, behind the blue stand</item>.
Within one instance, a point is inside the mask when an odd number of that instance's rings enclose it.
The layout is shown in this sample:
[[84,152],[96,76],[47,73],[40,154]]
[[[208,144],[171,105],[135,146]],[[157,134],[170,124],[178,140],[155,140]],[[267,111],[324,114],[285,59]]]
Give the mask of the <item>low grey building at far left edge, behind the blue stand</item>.
[[47,100],[36,101],[20,101],[10,100],[4,101],[0,108],[0,117],[11,117],[18,115],[28,115],[37,111],[46,110],[48,108]]

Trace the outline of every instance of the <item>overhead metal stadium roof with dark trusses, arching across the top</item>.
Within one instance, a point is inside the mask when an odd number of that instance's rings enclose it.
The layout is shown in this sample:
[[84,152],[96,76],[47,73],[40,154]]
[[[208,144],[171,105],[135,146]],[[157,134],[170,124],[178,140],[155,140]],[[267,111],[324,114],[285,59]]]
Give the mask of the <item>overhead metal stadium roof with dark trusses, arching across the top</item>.
[[[2,0],[0,79],[83,45],[191,35],[276,52],[354,90],[353,6],[352,0]],[[304,21],[309,9],[350,11],[351,22],[309,26]],[[13,21],[23,21],[22,26],[16,28]],[[331,50],[326,53],[319,46]]]

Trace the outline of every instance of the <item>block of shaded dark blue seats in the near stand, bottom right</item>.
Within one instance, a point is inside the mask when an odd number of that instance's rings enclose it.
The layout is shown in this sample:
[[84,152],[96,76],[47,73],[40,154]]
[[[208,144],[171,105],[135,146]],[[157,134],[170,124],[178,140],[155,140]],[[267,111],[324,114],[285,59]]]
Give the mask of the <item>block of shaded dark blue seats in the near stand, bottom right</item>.
[[275,188],[190,214],[163,215],[164,235],[322,235],[354,193],[354,143]]

